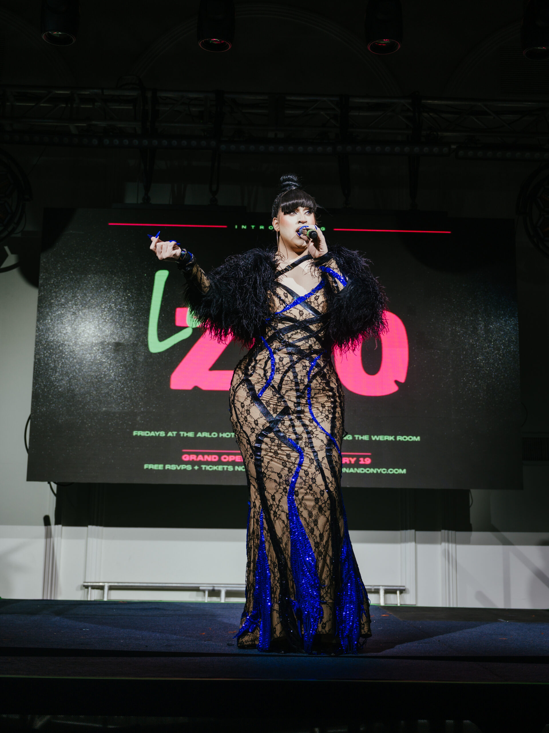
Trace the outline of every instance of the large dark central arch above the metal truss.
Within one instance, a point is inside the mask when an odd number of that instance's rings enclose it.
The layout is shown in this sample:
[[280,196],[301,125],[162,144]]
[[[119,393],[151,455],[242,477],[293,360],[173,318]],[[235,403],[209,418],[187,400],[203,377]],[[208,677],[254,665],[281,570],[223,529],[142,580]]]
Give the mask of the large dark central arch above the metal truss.
[[158,89],[400,95],[362,34],[277,4],[237,4],[234,46],[224,54],[198,47],[196,17],[189,18],[155,39],[127,73]]

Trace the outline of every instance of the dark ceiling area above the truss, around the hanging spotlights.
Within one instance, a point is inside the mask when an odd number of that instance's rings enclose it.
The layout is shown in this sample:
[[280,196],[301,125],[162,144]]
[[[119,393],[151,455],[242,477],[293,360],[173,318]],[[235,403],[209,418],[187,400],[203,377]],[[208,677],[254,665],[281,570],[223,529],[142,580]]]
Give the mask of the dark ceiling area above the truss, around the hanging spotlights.
[[41,40],[40,0],[2,0],[1,81],[114,86],[139,75],[171,89],[498,97],[501,48],[522,61],[519,0],[403,0],[403,48],[383,59],[365,48],[364,10],[365,1],[236,0],[234,47],[208,54],[196,42],[198,0],[83,0],[68,48]]

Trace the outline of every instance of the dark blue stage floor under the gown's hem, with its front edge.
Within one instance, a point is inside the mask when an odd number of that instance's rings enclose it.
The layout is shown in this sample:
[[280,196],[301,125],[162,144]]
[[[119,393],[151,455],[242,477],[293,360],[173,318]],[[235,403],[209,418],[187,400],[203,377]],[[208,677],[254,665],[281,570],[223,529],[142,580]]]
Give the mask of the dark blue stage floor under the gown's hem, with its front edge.
[[359,655],[237,649],[237,603],[0,600],[0,674],[549,682],[549,612],[372,606]]

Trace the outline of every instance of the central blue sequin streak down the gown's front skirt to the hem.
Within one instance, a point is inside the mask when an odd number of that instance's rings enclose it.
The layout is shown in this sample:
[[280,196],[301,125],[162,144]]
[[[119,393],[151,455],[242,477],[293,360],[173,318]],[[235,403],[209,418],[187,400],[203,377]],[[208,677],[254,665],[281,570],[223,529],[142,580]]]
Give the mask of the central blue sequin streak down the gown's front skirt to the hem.
[[291,438],[288,438],[288,442],[299,453],[299,462],[288,488],[290,562],[296,589],[296,600],[292,602],[292,605],[294,605],[296,619],[303,625],[303,648],[310,654],[313,651],[313,636],[323,616],[320,601],[320,578],[316,570],[315,553],[296,507],[296,483],[303,465],[304,454]]

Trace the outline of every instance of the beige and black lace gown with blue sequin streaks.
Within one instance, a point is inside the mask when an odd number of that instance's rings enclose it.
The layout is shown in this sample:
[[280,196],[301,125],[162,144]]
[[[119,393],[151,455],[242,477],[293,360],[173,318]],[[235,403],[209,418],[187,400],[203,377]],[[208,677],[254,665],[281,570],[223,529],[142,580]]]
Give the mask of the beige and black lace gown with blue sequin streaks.
[[[340,490],[343,389],[326,339],[325,288],[346,278],[334,259],[306,295],[277,270],[261,339],[231,383],[231,421],[247,481],[246,603],[241,648],[356,652],[370,636],[369,600]],[[205,292],[198,265],[187,274]]]

